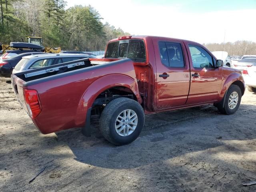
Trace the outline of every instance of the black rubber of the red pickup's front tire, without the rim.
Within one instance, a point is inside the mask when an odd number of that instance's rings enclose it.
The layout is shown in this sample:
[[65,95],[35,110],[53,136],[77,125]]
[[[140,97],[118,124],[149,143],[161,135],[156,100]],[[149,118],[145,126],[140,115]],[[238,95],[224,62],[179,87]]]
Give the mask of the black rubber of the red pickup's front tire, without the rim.
[[[238,93],[238,102],[236,104],[236,107],[234,109],[231,109],[228,106],[228,100],[230,98],[230,95],[233,92]],[[241,89],[237,85],[231,85],[227,90],[226,97],[223,98],[222,101],[217,106],[219,112],[221,112],[222,114],[227,114],[227,115],[231,115],[231,114],[235,113],[238,110],[239,106],[240,106],[241,97],[242,97]],[[224,104],[223,104],[223,102],[224,102]]]

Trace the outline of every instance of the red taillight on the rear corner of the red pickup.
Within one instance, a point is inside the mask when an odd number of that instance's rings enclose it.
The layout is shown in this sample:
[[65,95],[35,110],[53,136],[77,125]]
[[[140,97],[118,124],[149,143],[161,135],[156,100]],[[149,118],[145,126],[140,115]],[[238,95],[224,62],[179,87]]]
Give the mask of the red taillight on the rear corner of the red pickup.
[[31,118],[36,118],[42,111],[38,92],[34,89],[24,89],[24,98]]

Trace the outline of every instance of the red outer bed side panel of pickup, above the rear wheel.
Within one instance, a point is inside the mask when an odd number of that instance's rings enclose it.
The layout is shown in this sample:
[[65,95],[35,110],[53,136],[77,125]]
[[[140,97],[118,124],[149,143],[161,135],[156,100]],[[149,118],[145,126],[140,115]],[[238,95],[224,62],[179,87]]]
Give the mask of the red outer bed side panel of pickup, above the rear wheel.
[[105,88],[126,86],[141,100],[130,59],[86,69],[77,70],[73,75],[67,72],[61,78],[38,84],[28,82],[27,88],[39,94],[42,112],[32,120],[43,134],[83,126],[87,109]]

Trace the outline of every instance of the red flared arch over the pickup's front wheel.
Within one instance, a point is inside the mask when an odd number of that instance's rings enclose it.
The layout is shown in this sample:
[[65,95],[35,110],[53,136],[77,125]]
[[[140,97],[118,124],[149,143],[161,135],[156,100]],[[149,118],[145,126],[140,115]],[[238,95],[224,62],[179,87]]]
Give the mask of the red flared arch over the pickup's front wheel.
[[233,84],[236,81],[242,82],[244,85],[244,90],[245,90],[245,84],[244,84],[244,78],[240,73],[232,72],[231,74],[228,75],[224,83],[222,84],[221,91],[220,91],[220,98],[219,100],[222,100],[222,98],[225,95],[225,92],[228,90],[231,84]]

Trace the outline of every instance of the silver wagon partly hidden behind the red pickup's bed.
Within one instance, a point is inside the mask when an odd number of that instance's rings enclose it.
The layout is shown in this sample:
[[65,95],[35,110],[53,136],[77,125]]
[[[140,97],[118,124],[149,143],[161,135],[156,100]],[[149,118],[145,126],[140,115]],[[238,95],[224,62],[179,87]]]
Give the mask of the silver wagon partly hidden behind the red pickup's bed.
[[44,54],[25,56],[22,57],[22,60],[15,66],[12,74],[84,58],[95,57],[87,54]]

